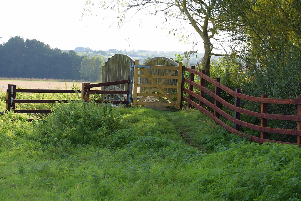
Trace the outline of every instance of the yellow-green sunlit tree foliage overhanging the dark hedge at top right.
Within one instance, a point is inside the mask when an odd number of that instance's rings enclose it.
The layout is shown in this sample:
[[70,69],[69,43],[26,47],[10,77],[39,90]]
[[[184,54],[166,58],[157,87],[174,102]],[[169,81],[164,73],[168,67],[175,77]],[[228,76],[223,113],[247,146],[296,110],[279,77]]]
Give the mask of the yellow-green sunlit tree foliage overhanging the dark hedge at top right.
[[300,52],[300,0],[219,0],[219,5],[219,29],[231,35],[244,67],[265,71],[272,58]]

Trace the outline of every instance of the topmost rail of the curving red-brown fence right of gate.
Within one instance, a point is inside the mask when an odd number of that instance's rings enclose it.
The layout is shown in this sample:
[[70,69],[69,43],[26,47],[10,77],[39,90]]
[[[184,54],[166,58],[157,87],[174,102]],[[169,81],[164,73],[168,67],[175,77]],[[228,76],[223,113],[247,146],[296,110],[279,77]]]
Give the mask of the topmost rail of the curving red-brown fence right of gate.
[[216,82],[216,80],[213,80],[211,77],[208,77],[199,71],[192,70],[187,67],[185,67],[185,71],[192,72],[192,73],[204,78],[205,80],[209,81],[210,83],[218,86],[221,90],[224,90],[225,92],[231,94],[232,96],[235,96],[235,97],[238,97],[241,99],[245,99],[245,100],[249,100],[249,101],[253,101],[253,102],[263,102],[263,103],[273,103],[273,104],[301,104],[301,99],[270,99],[270,98],[260,98],[260,97],[249,96],[249,95],[245,95],[242,93],[236,93],[235,91],[231,90],[227,86]]

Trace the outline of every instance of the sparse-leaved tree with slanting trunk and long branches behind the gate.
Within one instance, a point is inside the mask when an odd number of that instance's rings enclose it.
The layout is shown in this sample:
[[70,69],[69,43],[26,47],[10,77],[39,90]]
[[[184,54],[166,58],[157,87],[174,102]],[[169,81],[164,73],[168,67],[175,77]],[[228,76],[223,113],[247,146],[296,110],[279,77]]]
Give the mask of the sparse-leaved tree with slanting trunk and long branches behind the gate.
[[[94,3],[88,0],[85,10],[91,11],[91,5],[94,5]],[[216,38],[219,33],[218,28],[221,27],[219,25],[221,22],[217,20],[220,15],[220,4],[218,0],[111,0],[110,4],[107,4],[105,1],[100,1],[99,6],[104,9],[109,8],[119,11],[119,16],[117,17],[119,20],[118,25],[123,23],[125,14],[131,9],[137,9],[138,11],[148,12],[154,15],[163,13],[166,21],[169,17],[188,21],[204,43],[205,54],[203,56],[203,70],[205,70],[205,74],[208,76],[210,76],[211,56],[225,56],[212,52],[213,49],[216,48],[213,46],[213,40],[216,41],[218,45],[221,44]],[[180,29],[181,28],[175,28],[172,31]],[[196,51],[186,52],[184,55],[189,58],[189,56],[194,53],[196,53]]]

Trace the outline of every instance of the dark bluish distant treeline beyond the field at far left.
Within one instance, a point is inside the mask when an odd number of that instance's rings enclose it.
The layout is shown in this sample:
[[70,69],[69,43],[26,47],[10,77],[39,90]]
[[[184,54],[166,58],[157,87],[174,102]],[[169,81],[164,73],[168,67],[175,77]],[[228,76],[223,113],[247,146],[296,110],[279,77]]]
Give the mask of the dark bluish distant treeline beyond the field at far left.
[[0,77],[81,79],[83,56],[74,51],[52,49],[44,42],[11,37],[0,44]]

